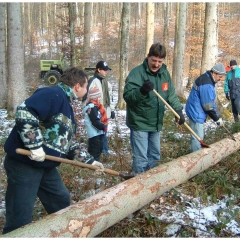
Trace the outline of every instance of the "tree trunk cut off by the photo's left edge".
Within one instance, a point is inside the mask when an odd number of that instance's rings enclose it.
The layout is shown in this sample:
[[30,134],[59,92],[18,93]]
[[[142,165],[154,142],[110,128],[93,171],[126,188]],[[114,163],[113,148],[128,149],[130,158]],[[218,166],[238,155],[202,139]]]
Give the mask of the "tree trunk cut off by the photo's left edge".
[[0,107],[7,104],[7,74],[6,74],[6,6],[0,3]]

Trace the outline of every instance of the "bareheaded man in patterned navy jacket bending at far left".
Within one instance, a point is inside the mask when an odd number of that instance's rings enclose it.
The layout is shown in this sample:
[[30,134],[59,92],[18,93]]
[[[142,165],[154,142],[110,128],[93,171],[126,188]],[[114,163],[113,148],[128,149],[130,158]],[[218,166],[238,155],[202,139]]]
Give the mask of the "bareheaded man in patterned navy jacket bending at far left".
[[[74,67],[63,73],[57,86],[37,89],[17,107],[16,124],[4,144],[8,185],[3,234],[32,221],[37,196],[48,214],[70,205],[70,194],[56,168],[60,163],[45,160],[46,154],[103,168],[92,156],[81,155],[74,138],[71,104],[86,92],[87,75]],[[17,148],[29,150],[30,156],[17,154]]]

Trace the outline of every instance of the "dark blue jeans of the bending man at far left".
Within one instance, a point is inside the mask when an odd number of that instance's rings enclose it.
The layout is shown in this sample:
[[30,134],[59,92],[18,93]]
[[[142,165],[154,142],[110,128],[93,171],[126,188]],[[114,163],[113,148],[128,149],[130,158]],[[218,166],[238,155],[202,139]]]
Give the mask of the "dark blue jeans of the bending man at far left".
[[70,205],[69,192],[56,168],[34,168],[17,159],[13,160],[8,155],[4,167],[8,186],[5,196],[6,223],[3,234],[32,221],[37,196],[49,214]]

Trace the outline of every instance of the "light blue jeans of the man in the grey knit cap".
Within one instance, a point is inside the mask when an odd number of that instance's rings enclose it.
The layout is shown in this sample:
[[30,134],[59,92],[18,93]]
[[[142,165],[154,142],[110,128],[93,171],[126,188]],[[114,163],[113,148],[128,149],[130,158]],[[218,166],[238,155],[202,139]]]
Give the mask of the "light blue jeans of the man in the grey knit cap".
[[[193,122],[189,119],[189,125],[191,129],[200,137],[201,140],[204,138],[204,129],[202,123]],[[201,143],[191,134],[191,152],[195,152],[201,148]]]

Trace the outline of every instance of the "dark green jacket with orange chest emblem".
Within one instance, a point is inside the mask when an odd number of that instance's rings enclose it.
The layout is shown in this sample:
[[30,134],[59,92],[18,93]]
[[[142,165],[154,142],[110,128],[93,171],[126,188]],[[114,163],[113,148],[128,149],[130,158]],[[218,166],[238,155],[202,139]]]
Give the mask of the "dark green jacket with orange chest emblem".
[[147,58],[143,63],[129,73],[123,98],[127,103],[126,124],[135,131],[156,132],[162,129],[165,104],[154,94],[146,96],[140,92],[144,80],[150,80],[154,89],[175,110],[182,110],[182,105],[175,93],[170,74],[165,64],[157,73],[152,73],[148,67]]

